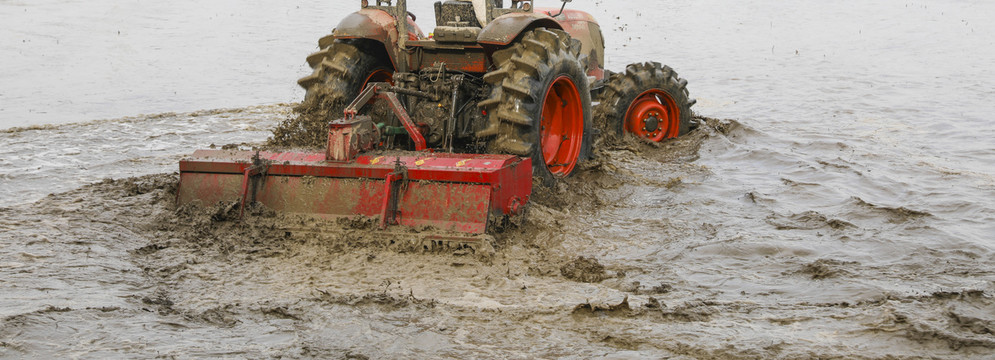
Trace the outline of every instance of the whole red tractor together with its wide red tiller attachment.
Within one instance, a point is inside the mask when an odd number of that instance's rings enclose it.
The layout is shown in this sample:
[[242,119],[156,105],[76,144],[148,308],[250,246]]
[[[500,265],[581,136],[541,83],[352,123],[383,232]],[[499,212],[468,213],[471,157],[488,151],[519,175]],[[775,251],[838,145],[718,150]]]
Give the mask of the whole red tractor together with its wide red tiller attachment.
[[[326,153],[198,152],[181,163],[181,202],[234,198],[478,234],[521,211],[533,175],[571,175],[599,133],[660,141],[691,125],[687,82],[659,63],[605,70],[601,27],[570,0],[436,2],[428,36],[405,0],[373,2],[318,41],[314,72],[298,81],[305,107],[334,115]],[[393,114],[369,116],[374,98]],[[303,188],[315,179],[318,190]]]

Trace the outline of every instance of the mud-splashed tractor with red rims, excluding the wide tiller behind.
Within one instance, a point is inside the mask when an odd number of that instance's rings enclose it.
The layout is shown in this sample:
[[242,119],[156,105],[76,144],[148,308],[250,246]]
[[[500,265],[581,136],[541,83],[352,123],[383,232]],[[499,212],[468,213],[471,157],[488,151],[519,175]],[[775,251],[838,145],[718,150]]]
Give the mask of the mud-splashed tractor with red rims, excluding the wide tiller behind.
[[565,9],[568,2],[558,9],[436,2],[436,27],[425,36],[405,0],[363,1],[318,41],[307,57],[314,71],[298,83],[306,103],[336,110],[373,82],[409,90],[406,109],[429,147],[530,157],[547,182],[590,156],[602,130],[594,128],[592,99],[604,108],[599,114],[613,117],[603,130],[653,141],[686,133],[694,103],[687,82],[654,63],[612,77],[601,27]]

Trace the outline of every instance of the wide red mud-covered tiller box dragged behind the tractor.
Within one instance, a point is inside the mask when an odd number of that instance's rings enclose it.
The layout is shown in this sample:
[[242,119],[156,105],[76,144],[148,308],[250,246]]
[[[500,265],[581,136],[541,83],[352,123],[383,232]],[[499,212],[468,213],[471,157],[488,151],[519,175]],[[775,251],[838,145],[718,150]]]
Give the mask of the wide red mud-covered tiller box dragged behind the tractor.
[[199,150],[180,162],[180,204],[259,202],[321,217],[367,216],[390,225],[483,234],[515,215],[532,191],[529,159],[407,152],[327,161],[321,153]]

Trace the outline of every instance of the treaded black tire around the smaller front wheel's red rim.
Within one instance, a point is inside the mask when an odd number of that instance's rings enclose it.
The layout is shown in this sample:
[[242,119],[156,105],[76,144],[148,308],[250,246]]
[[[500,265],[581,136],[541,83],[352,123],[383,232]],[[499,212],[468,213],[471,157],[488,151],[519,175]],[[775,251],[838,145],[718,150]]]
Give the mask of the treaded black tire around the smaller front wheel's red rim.
[[[632,116],[630,110],[633,110],[634,102],[642,99],[645,94],[658,94],[663,98],[662,107],[670,107],[672,111],[678,113],[673,114],[676,124],[668,125],[664,121],[662,125],[673,126],[673,131],[658,133],[657,140],[687,134],[691,130],[694,117],[691,106],[696,102],[690,98],[687,84],[687,80],[681,79],[669,66],[657,62],[631,64],[626,67],[624,73],[612,74],[598,97],[600,103],[595,107],[597,126],[602,129],[603,134],[612,134],[621,138],[624,133],[630,132],[625,126],[626,121],[630,121],[626,117]],[[653,137],[645,133],[634,135]]]

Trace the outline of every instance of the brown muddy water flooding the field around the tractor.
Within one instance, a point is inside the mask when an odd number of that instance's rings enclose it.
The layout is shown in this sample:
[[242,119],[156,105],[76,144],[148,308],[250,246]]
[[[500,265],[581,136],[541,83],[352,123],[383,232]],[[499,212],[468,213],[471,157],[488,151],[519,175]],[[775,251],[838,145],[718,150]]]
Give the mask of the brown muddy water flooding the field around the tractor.
[[732,120],[603,149],[489,256],[172,204],[182,154],[260,143],[287,106],[0,133],[0,356],[991,356],[995,6],[626,5],[571,4],[612,68],[671,64]]

